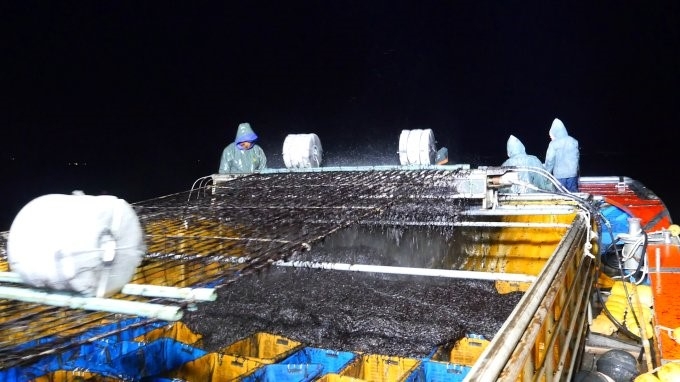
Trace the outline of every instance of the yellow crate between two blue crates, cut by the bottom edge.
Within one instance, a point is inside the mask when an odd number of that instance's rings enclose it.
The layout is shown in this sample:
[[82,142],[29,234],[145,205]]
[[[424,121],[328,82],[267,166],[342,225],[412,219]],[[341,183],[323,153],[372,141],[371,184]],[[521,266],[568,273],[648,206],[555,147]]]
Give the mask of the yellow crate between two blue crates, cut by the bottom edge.
[[415,358],[365,354],[340,371],[340,376],[352,379],[339,381],[403,381],[419,364],[420,360]]

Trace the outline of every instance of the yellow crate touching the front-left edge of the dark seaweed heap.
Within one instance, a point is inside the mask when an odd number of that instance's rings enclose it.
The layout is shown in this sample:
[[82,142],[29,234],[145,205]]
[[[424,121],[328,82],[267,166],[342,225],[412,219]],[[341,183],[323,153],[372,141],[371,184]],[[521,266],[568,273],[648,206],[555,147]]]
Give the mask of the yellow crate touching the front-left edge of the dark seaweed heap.
[[220,353],[274,363],[302,347],[302,343],[265,332],[254,333],[220,350]]

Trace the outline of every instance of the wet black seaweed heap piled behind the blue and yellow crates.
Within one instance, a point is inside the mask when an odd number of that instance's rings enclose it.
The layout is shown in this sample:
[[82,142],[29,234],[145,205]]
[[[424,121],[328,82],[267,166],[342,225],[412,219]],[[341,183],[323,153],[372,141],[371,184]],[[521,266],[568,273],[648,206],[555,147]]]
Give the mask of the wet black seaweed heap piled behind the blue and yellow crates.
[[184,321],[209,351],[264,331],[314,347],[424,357],[467,333],[493,337],[520,297],[487,281],[272,267]]

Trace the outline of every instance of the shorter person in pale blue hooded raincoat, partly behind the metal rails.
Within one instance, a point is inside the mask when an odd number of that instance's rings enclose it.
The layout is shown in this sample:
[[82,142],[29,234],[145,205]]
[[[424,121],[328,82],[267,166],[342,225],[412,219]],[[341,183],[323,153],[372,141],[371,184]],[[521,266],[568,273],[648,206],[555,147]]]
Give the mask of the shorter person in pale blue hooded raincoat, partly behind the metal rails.
[[[531,184],[542,190],[552,189],[549,186],[549,181],[545,176],[540,174],[543,169],[543,162],[538,159],[535,155],[527,154],[526,148],[522,141],[520,141],[514,135],[510,135],[507,143],[508,159],[503,162],[502,166],[515,166],[515,167],[533,167],[538,171],[519,170],[519,180],[521,182]],[[528,186],[513,185],[510,187],[510,192],[522,193],[522,192],[535,192],[536,190]]]

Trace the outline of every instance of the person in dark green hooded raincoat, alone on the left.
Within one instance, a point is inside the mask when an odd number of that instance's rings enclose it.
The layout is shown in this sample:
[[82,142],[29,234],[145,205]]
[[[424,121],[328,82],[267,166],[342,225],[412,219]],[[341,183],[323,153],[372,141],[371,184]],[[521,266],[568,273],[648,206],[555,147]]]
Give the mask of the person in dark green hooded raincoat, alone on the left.
[[257,134],[250,124],[238,126],[236,139],[222,151],[220,174],[252,173],[267,167],[267,157],[262,148],[255,144]]

